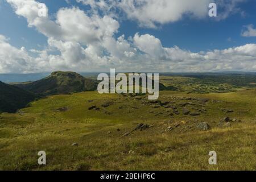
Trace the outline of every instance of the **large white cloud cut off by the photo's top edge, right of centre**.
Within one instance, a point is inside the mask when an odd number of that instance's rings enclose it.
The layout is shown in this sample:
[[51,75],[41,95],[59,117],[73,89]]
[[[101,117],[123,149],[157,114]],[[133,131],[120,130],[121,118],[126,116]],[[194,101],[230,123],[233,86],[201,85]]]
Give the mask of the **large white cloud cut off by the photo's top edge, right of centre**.
[[128,19],[136,20],[141,27],[157,28],[158,24],[176,22],[184,16],[202,19],[208,16],[209,3],[215,2],[218,16],[214,19],[222,20],[229,15],[244,12],[237,7],[246,0],[77,0],[89,5],[94,11],[101,11],[114,16],[122,11]]

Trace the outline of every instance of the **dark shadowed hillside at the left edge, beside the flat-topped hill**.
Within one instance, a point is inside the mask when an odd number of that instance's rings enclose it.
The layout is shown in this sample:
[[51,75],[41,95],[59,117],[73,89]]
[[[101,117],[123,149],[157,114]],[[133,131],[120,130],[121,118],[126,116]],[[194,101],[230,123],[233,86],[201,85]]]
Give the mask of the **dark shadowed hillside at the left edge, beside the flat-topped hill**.
[[34,94],[0,81],[0,113],[14,113],[35,98]]

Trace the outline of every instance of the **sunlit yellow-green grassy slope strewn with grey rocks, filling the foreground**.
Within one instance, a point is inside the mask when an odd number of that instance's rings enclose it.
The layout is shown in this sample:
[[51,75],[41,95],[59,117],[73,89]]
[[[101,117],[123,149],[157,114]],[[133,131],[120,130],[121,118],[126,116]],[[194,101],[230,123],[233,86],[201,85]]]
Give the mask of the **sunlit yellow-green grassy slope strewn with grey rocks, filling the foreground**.
[[[204,106],[207,113],[196,117],[183,114],[171,117],[170,109],[154,108],[147,104],[146,97],[137,100],[97,92],[50,96],[32,102],[31,107],[22,109],[24,114],[0,115],[0,169],[255,170],[255,96],[255,89],[224,94],[160,92],[160,100],[175,101],[176,105],[184,102],[180,97],[210,98]],[[101,107],[105,102],[114,104]],[[88,110],[93,105],[101,110]],[[56,111],[59,107],[68,110]],[[234,113],[224,113],[220,108],[233,109]],[[234,122],[229,128],[217,127],[227,115],[242,122]],[[196,123],[201,121],[207,121],[212,129],[196,129]],[[138,123],[154,126],[121,137]],[[180,125],[174,130],[165,131],[177,123]],[[72,147],[74,142],[79,146]],[[43,167],[37,164],[40,150],[47,153],[47,165]],[[211,150],[217,152],[217,166],[208,164]]]

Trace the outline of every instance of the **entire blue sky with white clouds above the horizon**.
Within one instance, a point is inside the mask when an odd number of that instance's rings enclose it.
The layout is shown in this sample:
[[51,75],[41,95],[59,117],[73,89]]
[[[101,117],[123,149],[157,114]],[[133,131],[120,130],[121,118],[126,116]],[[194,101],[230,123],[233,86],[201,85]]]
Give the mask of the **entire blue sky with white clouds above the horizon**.
[[254,0],[0,0],[0,73],[256,71],[255,10]]

